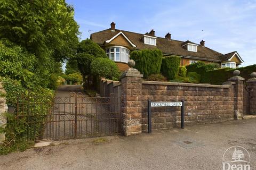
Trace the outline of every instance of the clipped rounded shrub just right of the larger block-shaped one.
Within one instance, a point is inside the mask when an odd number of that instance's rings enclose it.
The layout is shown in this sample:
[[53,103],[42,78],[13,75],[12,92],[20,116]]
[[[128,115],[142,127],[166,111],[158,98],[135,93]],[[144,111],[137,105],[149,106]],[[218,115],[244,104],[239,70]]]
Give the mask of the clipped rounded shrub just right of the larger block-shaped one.
[[177,77],[180,66],[179,56],[164,57],[162,62],[162,74],[168,79],[173,80]]

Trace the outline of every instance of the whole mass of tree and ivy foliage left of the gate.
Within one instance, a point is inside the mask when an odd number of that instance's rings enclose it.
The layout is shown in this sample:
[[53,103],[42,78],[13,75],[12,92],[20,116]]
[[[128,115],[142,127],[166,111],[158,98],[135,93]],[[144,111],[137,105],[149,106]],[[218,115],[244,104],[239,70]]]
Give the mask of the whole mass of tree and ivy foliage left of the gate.
[[[0,146],[0,154],[6,154],[24,150],[39,138],[53,90],[61,82],[61,63],[76,53],[79,31],[74,8],[62,0],[4,0],[0,15],[0,81],[7,105],[15,108],[21,96],[29,103],[42,101],[33,109],[27,105],[19,122],[15,112],[6,114],[7,125],[1,129],[6,141]],[[36,122],[33,126],[26,116],[31,111],[36,114],[29,120]]]

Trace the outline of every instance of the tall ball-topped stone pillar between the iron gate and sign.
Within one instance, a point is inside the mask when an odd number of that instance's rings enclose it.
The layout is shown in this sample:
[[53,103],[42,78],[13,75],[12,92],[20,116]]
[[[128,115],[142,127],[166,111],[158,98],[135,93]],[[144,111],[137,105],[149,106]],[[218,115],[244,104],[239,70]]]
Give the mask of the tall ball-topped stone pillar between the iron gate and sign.
[[141,88],[143,75],[137,69],[133,60],[128,62],[131,67],[121,76],[121,112],[122,131],[126,136],[141,133]]

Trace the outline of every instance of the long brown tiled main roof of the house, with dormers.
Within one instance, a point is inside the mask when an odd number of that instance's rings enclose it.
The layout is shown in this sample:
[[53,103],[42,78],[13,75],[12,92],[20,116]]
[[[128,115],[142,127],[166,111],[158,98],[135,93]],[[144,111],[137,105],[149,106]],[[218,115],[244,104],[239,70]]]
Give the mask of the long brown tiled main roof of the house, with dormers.
[[142,37],[144,36],[141,33],[135,33],[130,31],[123,31],[123,30],[115,30],[111,31],[110,29],[95,32],[91,34],[91,39],[99,44],[103,45],[106,40],[111,39],[117,33],[122,31],[124,35],[131,40],[133,44],[136,45],[136,49],[154,49],[158,48],[162,50],[163,54],[165,55],[179,55],[179,56],[186,56],[186,57],[197,57],[202,58],[204,60],[213,60],[213,61],[223,61],[222,57],[223,54],[218,53],[210,48],[202,47],[201,45],[197,46],[197,52],[190,52],[187,49],[183,48],[182,45],[184,43],[191,43],[196,44],[191,41],[179,41],[179,40],[167,40],[166,38],[157,37],[156,46],[144,44]]

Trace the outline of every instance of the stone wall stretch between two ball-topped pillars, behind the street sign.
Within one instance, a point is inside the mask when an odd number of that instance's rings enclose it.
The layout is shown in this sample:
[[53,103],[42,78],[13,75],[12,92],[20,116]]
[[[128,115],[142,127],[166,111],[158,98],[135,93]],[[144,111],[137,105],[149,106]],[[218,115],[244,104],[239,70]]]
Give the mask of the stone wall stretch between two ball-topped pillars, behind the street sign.
[[[185,100],[185,125],[234,120],[235,87],[142,81],[142,131],[147,131],[147,101]],[[152,107],[152,129],[180,127],[180,107]]]

